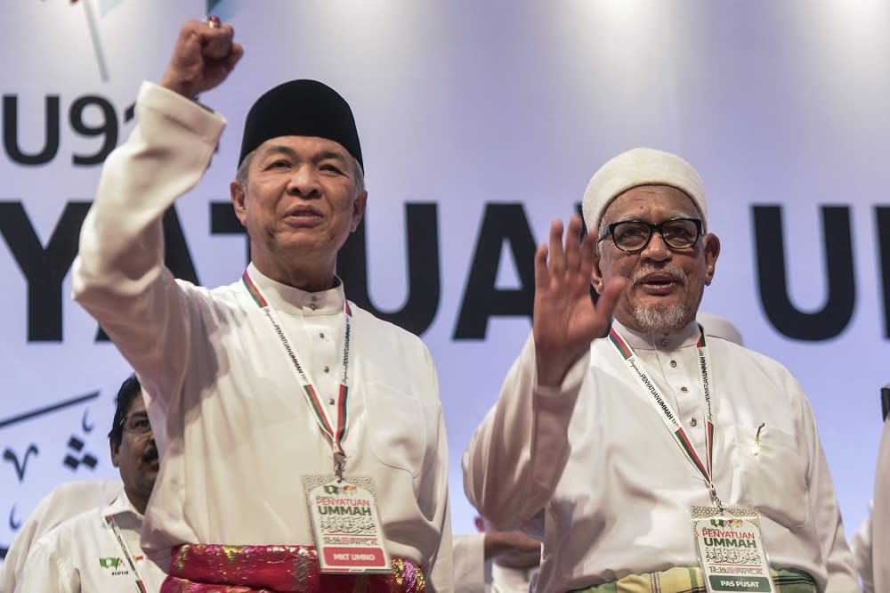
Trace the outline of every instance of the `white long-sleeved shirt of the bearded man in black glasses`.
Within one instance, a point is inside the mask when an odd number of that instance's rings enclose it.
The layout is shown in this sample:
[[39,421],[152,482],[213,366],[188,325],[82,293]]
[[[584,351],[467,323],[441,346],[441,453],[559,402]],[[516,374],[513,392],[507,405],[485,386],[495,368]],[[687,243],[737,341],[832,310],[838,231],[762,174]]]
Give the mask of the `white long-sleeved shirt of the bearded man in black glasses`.
[[[655,340],[615,327],[704,451],[698,326]],[[821,590],[858,590],[813,413],[797,382],[779,363],[717,337],[708,337],[708,354],[717,495],[724,505],[759,509],[774,567],[810,573]],[[704,478],[608,338],[595,340],[562,385],[550,388],[537,384],[529,339],[463,466],[467,496],[498,528],[545,509],[540,591],[697,565],[690,507],[712,504]]]

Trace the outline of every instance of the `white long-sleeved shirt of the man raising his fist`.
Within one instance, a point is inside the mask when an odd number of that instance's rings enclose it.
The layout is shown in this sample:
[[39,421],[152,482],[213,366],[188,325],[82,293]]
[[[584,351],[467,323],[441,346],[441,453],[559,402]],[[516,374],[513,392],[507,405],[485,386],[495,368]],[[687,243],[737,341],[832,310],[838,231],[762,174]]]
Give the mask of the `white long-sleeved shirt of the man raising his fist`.
[[[302,476],[333,475],[333,454],[282,342],[242,282],[196,287],[163,264],[161,216],[198,183],[225,120],[148,83],[136,113],[86,217],[74,292],[136,370],[163,459],[143,547],[163,558],[183,543],[312,545]],[[248,272],[336,414],[343,286],[308,293],[253,264]],[[350,307],[345,475],[374,479],[389,553],[421,565],[432,590],[450,590],[433,360],[416,336]]]

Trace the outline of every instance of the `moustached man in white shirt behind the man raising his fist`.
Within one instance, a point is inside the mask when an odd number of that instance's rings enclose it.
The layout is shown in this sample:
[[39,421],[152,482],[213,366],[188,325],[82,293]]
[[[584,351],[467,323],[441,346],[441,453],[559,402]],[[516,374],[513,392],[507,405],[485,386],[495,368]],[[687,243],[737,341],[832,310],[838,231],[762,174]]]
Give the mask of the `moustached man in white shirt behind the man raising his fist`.
[[73,516],[31,546],[14,589],[20,593],[157,591],[164,572],[139,545],[142,515],[158,476],[158,448],[135,377],[117,392],[109,432],[111,463],[124,491],[108,505]]

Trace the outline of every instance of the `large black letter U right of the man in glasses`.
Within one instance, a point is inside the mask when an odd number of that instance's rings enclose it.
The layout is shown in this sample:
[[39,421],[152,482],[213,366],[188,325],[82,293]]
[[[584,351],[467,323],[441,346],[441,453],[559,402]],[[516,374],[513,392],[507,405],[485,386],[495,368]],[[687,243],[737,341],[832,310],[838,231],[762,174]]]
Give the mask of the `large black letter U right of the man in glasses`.
[[[842,332],[853,315],[856,287],[850,208],[823,206],[825,268],[828,298],[815,313],[803,313],[791,304],[781,231],[781,206],[754,206],[757,278],[766,317],[785,336],[808,341],[827,340]],[[815,233],[807,233],[813,235]]]

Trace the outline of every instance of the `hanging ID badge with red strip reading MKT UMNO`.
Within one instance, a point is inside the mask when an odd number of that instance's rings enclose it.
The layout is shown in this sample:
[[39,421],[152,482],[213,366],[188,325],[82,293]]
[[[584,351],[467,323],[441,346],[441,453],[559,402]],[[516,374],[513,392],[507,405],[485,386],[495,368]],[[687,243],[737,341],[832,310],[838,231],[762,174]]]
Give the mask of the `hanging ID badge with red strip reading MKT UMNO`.
[[304,475],[322,573],[389,573],[389,554],[369,477]]

